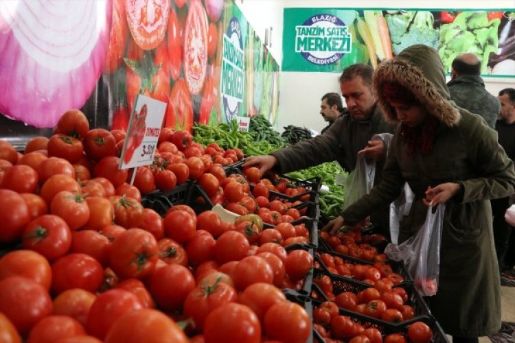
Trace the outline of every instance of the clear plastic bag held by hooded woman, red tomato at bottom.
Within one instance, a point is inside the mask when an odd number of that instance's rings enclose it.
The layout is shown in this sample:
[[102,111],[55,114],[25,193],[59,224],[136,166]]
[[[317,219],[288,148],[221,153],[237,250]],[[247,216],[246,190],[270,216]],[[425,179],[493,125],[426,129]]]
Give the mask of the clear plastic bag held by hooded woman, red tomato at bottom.
[[385,248],[390,259],[404,261],[422,296],[434,296],[438,289],[444,212],[444,204],[438,204],[434,213],[430,207],[417,235],[402,244],[390,243]]

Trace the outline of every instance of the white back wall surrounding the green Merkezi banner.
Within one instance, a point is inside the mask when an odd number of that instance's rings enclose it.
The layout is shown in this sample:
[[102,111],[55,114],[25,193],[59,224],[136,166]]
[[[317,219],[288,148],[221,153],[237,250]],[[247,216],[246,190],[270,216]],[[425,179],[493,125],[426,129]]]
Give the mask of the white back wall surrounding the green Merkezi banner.
[[[334,7],[334,8],[477,8],[514,9],[514,0],[470,1],[470,0],[361,0],[359,2],[339,0],[234,0],[244,16],[264,40],[266,27],[273,27],[271,47],[268,49],[279,64],[282,64],[282,29],[284,8]],[[514,71],[515,73],[515,71]],[[279,95],[279,120],[277,129],[293,124],[321,130],[325,121],[319,114],[320,98],[328,92],[339,93],[339,73],[282,72]],[[487,90],[497,95],[502,88],[515,86],[515,79],[485,78]]]

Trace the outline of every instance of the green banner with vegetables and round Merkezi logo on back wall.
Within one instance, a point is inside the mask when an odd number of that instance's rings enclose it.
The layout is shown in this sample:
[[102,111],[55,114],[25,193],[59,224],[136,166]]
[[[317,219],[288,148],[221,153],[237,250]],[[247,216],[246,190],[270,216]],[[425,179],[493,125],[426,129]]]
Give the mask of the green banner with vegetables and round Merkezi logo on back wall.
[[282,71],[340,73],[376,67],[413,44],[439,51],[446,71],[463,52],[477,54],[481,74],[515,76],[513,10],[351,10],[285,8]]

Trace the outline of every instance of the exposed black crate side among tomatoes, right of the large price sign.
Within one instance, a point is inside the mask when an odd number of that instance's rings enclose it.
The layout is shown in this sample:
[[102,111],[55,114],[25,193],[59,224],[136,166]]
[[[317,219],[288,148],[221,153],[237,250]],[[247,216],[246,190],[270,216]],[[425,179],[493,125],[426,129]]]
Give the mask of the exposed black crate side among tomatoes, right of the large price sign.
[[188,205],[197,214],[213,208],[213,203],[209,200],[205,191],[191,181],[178,185],[171,191],[148,193],[141,198],[141,204],[147,209],[156,211],[161,216],[165,215],[170,207],[177,204]]

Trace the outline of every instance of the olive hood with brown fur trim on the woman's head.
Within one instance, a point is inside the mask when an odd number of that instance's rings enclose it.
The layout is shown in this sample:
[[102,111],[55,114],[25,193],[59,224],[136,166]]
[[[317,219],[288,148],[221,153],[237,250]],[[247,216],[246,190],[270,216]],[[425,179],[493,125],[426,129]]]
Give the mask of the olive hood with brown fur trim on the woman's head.
[[382,95],[382,84],[400,84],[415,95],[431,115],[446,126],[459,122],[459,110],[450,102],[444,65],[435,49],[426,45],[411,45],[396,60],[386,60],[374,72],[374,93],[382,113],[389,121],[398,122],[396,111]]

